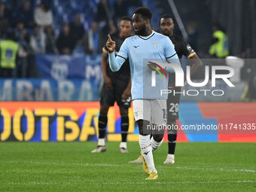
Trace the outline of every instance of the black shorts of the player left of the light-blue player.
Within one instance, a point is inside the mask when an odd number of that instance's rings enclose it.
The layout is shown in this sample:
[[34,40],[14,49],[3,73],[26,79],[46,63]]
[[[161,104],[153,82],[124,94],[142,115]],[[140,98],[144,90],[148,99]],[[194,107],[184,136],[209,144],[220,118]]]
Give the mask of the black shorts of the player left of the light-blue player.
[[117,102],[119,107],[130,108],[132,100],[131,97],[126,100],[122,99],[123,91],[126,89],[129,81],[130,78],[124,80],[122,79],[121,81],[117,79],[112,80],[114,87],[112,90],[108,90],[106,85],[103,84],[102,91],[100,93],[100,105],[113,106],[114,102]]

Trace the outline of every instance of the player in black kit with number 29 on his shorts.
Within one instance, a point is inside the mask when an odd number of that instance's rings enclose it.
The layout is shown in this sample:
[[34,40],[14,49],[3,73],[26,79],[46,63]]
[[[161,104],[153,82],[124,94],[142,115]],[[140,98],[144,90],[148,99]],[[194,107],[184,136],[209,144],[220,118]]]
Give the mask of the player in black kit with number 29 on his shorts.
[[[160,28],[161,33],[163,35],[169,36],[172,43],[174,44],[176,53],[178,54],[178,58],[181,59],[182,56],[187,56],[187,59],[191,59],[193,62],[193,66],[190,69],[190,75],[193,75],[197,72],[197,70],[203,66],[200,61],[197,53],[194,52],[192,47],[190,47],[187,42],[177,35],[173,34],[173,29],[175,27],[175,20],[169,14],[164,14],[163,17],[160,18]],[[175,87],[175,73],[169,74],[169,90],[175,90],[176,93],[181,92],[181,87]],[[178,108],[179,108],[180,94],[169,94],[167,99],[167,125],[169,127],[173,127],[176,124],[176,120],[178,120]],[[177,139],[177,130],[168,130],[168,155],[165,164],[173,164],[174,153],[175,153],[175,145]]]

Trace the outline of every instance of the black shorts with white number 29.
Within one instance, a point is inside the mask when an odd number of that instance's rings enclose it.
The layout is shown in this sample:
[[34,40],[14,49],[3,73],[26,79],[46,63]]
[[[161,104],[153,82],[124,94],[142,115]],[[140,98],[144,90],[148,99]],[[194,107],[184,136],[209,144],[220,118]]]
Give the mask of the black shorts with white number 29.
[[[175,92],[181,92],[181,87],[176,87]],[[175,93],[175,96],[173,96],[173,92],[168,94],[167,123],[178,119],[178,108],[179,108],[180,99],[181,99],[181,94]]]

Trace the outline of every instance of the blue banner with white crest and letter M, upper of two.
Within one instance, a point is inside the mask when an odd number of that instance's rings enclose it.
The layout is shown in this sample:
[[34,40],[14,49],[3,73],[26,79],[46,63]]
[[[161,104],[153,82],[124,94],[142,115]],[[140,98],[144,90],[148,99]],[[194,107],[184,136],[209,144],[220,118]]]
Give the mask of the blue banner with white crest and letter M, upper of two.
[[101,55],[36,55],[36,66],[41,78],[81,78],[99,82],[102,80],[101,59]]

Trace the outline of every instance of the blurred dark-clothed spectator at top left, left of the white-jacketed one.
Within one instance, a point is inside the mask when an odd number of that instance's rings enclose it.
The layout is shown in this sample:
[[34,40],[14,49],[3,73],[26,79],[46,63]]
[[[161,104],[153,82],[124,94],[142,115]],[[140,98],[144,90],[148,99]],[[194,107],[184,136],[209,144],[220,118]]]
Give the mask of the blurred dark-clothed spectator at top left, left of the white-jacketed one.
[[23,2],[22,7],[17,11],[16,18],[23,20],[26,28],[32,29],[35,26],[33,10],[29,0]]

